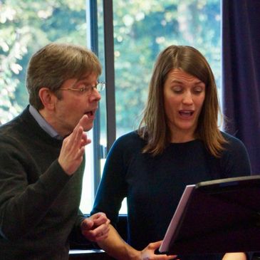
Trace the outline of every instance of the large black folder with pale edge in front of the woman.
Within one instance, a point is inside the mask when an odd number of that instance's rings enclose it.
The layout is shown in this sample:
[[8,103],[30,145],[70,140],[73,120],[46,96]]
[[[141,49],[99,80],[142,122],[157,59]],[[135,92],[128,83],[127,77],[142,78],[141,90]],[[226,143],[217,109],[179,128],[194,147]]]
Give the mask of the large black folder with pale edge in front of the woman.
[[159,251],[260,251],[260,175],[188,185]]

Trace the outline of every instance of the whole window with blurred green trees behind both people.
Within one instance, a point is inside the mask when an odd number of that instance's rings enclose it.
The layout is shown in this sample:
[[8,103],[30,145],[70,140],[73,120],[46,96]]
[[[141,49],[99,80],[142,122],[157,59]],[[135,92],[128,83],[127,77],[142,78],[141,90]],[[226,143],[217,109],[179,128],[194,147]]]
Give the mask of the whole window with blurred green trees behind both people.
[[[107,20],[104,13],[108,11],[103,8],[105,4],[113,4],[113,17],[110,16],[109,21],[113,35],[110,31],[105,32]],[[108,82],[112,75],[105,70],[110,70],[111,64],[108,64],[113,61],[105,58],[105,47],[113,47],[110,50],[113,50],[115,85],[112,82],[108,88],[112,90],[109,95],[113,95],[115,87],[115,104],[110,97],[106,101],[103,93],[100,120],[96,120],[94,130],[88,133],[99,142],[94,142],[95,149],[88,145],[86,150],[91,165],[86,167],[83,182],[80,207],[84,213],[92,208],[105,162],[107,140],[111,140],[108,125],[113,122],[107,120],[107,108],[112,106],[112,110],[115,109],[116,137],[137,128],[137,115],[145,105],[152,66],[163,48],[171,44],[198,48],[207,57],[220,90],[220,0],[131,0],[128,4],[124,0],[39,0],[15,4],[1,1],[0,11],[1,123],[14,118],[28,103],[24,87],[26,66],[38,48],[50,41],[95,48],[93,51],[103,63],[102,80]],[[90,15],[93,16],[91,19]],[[113,39],[109,46],[104,46],[105,36]],[[110,110],[108,113],[109,118]],[[126,213],[125,204],[121,212]]]

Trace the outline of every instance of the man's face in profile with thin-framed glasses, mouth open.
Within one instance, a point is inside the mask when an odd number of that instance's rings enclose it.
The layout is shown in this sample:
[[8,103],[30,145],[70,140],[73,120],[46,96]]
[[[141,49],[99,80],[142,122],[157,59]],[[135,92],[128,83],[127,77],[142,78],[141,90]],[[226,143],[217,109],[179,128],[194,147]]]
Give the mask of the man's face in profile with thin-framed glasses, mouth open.
[[101,98],[100,93],[95,88],[87,93],[78,90],[85,86],[95,86],[97,83],[98,76],[91,73],[80,79],[68,79],[61,85],[61,90],[58,90],[61,91],[61,99],[56,98],[51,119],[51,125],[59,135],[69,135],[83,115],[88,115],[88,124],[85,125],[84,131],[93,128],[95,111]]

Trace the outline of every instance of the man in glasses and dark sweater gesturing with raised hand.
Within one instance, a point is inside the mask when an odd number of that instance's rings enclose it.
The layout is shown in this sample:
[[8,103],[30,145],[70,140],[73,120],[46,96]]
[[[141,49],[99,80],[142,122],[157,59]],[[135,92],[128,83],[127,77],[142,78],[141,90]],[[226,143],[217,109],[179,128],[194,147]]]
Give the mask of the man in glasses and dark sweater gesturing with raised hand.
[[80,46],[51,43],[32,56],[30,105],[0,128],[0,259],[68,259],[71,234],[108,236],[105,214],[78,209],[100,73]]

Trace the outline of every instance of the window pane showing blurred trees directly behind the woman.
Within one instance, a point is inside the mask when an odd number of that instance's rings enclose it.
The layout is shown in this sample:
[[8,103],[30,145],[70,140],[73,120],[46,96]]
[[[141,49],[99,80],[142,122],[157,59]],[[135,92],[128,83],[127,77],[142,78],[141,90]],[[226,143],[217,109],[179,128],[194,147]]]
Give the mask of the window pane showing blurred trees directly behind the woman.
[[117,137],[137,128],[152,66],[169,45],[198,48],[220,89],[220,0],[114,0],[113,12]]

